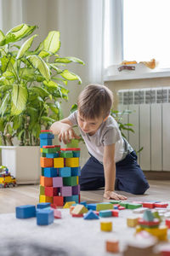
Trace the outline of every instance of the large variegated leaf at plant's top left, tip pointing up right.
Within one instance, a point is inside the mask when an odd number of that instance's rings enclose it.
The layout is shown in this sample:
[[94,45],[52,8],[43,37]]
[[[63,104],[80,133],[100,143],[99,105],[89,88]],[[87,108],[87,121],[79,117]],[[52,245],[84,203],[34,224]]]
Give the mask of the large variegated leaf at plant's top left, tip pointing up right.
[[5,36],[6,42],[8,43],[14,43],[16,41],[20,41],[23,38],[26,38],[29,36],[37,26],[28,26],[26,24],[20,24],[19,26],[15,26],[11,30],[9,30]]

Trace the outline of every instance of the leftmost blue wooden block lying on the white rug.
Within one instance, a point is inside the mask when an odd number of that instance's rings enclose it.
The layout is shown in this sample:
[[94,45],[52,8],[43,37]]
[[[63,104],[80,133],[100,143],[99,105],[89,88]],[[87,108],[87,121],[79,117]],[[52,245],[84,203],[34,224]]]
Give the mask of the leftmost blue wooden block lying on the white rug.
[[36,217],[36,207],[32,205],[16,207],[15,212],[16,212],[16,218]]

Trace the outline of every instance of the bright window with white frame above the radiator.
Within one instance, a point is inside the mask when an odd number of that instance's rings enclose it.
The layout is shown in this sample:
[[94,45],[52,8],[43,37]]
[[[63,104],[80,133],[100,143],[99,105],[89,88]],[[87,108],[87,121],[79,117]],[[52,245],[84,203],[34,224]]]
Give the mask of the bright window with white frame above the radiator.
[[170,68],[169,9],[169,0],[105,0],[105,68],[152,58]]

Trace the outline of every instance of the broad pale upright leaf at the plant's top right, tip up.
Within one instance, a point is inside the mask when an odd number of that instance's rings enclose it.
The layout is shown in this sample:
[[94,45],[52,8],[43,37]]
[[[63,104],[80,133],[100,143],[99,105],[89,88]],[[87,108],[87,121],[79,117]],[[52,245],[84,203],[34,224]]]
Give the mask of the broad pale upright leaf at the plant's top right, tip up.
[[59,32],[58,31],[51,31],[48,33],[48,37],[45,38],[43,41],[43,49],[51,52],[56,53],[60,48],[60,41],[59,41]]

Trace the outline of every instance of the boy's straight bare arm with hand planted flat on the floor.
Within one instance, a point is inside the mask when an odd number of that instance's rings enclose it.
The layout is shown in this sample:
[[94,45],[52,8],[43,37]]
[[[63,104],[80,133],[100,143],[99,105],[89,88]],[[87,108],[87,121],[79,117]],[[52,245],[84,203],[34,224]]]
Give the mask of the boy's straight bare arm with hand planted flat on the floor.
[[106,199],[126,200],[124,195],[118,195],[114,192],[116,180],[115,164],[115,144],[105,146],[104,148],[104,172],[105,172],[105,194]]

